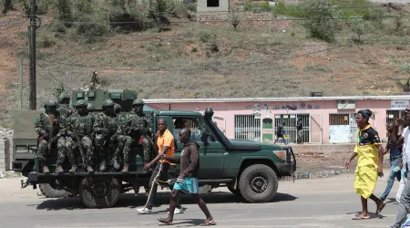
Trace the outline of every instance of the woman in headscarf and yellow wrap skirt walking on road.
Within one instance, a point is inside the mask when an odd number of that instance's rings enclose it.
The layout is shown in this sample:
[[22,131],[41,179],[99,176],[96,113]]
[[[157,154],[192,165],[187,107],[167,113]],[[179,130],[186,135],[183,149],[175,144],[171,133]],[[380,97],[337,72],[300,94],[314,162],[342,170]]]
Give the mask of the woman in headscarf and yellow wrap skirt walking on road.
[[357,131],[357,142],[354,152],[349,160],[344,164],[348,169],[350,162],[357,158],[357,167],[354,173],[354,190],[360,194],[362,201],[362,212],[354,216],[354,220],[369,219],[367,211],[367,199],[370,198],[376,203],[377,215],[384,209],[385,203],[377,198],[374,194],[374,187],[377,177],[383,176],[383,147],[377,131],[369,123],[372,111],[362,109],[357,112],[356,123],[359,130]]

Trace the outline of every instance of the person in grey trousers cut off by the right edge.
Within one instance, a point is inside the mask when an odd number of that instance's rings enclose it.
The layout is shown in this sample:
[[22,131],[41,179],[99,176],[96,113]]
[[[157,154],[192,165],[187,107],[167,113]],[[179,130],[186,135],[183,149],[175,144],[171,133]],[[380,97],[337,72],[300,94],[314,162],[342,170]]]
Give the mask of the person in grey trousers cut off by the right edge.
[[[398,128],[399,126],[406,125],[405,129],[402,131],[399,137],[397,137],[398,134]],[[401,119],[395,119],[395,127],[393,128],[392,131],[392,144],[397,146],[401,145],[404,143],[404,150],[403,150],[403,168],[405,170],[405,175],[404,179],[407,179],[405,181],[405,187],[403,189],[402,195],[400,196],[400,202],[398,204],[398,211],[397,214],[395,215],[395,222],[392,224],[391,227],[393,228],[399,228],[402,226],[403,223],[405,223],[405,219],[407,217],[407,212],[410,208],[410,181],[408,179],[410,178],[410,173],[408,172],[408,167],[409,162],[410,162],[410,130],[409,130],[409,124],[410,124],[410,106],[407,106],[405,108],[405,119],[402,121]],[[404,180],[403,180],[404,181]]]

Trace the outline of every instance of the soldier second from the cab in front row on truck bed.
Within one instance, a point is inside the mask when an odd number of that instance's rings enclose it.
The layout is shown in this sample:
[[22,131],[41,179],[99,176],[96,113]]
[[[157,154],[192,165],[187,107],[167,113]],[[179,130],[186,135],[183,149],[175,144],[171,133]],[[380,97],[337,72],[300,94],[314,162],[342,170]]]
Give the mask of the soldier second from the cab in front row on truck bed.
[[118,104],[114,105],[114,111],[116,112],[116,121],[117,121],[117,132],[113,136],[113,140],[117,142],[117,148],[114,153],[114,157],[112,159],[112,163],[114,164],[114,168],[116,170],[119,169],[119,156],[121,153],[124,156],[124,166],[122,168],[123,173],[128,172],[128,152],[131,150],[132,139],[127,134],[127,120],[121,116],[121,106]]

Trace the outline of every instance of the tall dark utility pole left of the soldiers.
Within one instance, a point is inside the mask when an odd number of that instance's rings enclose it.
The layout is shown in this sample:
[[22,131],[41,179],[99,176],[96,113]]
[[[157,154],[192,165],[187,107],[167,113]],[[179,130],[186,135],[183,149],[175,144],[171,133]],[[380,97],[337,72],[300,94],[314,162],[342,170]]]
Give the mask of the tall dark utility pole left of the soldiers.
[[29,56],[30,56],[30,78],[29,78],[29,98],[28,108],[36,109],[36,14],[37,0],[32,0],[30,10],[30,40],[29,40]]

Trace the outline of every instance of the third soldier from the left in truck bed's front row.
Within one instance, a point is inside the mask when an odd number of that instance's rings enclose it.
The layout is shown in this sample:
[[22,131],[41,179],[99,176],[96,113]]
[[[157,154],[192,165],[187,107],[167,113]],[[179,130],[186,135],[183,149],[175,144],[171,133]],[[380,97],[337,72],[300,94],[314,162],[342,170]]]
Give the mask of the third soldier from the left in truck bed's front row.
[[67,119],[68,135],[77,141],[81,157],[85,166],[87,165],[87,172],[93,173],[92,168],[94,164],[93,154],[93,125],[94,119],[87,113],[87,102],[83,99],[76,102],[77,113]]

